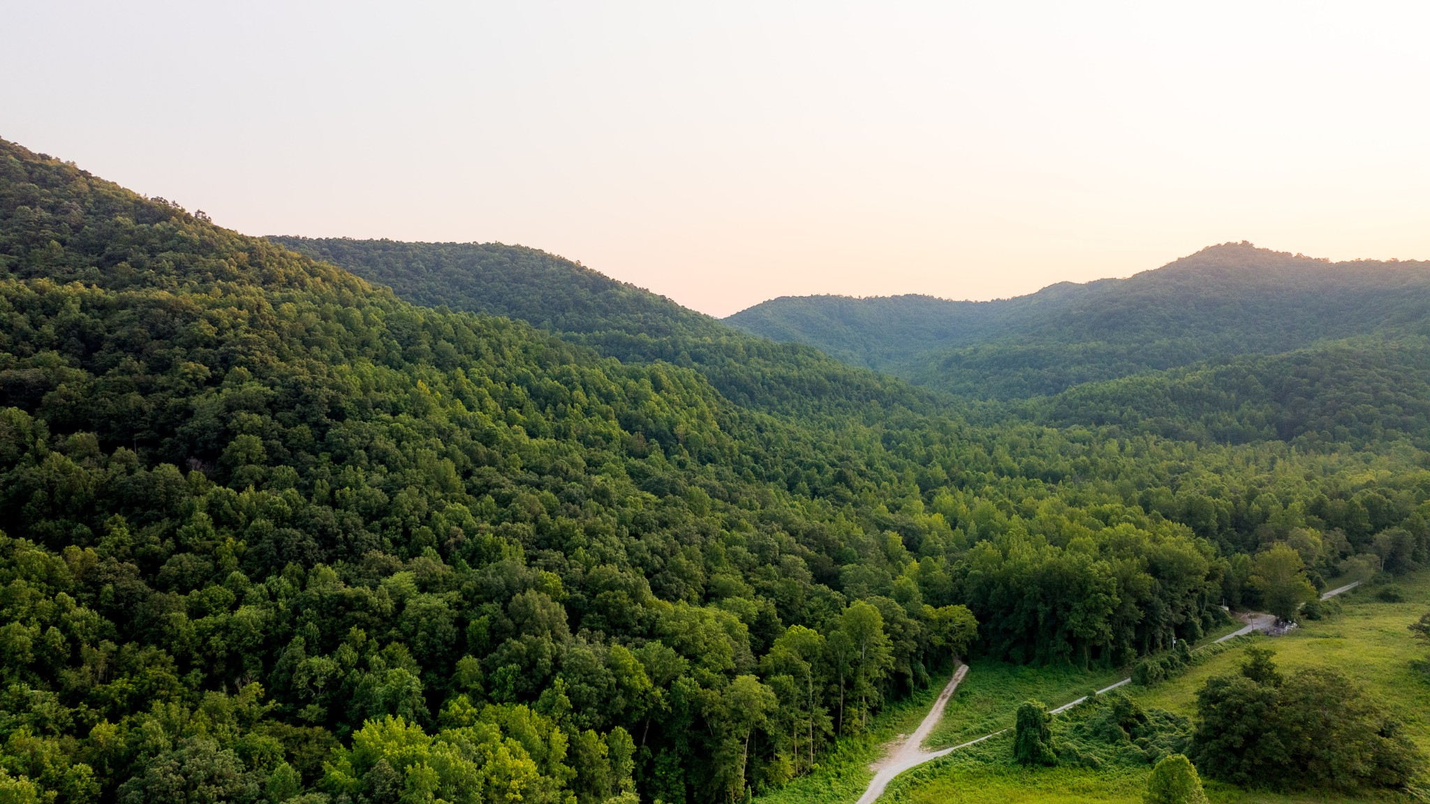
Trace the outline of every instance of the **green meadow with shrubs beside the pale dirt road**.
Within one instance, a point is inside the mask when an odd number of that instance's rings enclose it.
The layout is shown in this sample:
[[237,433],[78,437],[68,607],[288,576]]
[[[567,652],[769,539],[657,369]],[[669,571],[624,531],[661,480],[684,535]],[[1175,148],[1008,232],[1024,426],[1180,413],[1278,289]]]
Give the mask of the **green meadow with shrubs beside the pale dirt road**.
[[[1303,618],[1284,635],[1241,637],[1198,651],[1198,661],[1180,674],[1151,685],[1134,682],[1101,695],[1093,707],[1083,704],[1065,715],[1054,715],[1051,738],[1060,757],[1052,767],[1020,764],[1015,760],[1017,732],[1010,730],[904,774],[881,801],[1141,804],[1155,765],[1148,760],[1181,751],[1200,760],[1197,770],[1213,803],[1419,801],[1414,791],[1421,790],[1423,757],[1430,750],[1430,680],[1417,665],[1424,658],[1424,645],[1411,627],[1430,612],[1430,572],[1379,581],[1320,607],[1318,619]],[[1389,595],[1384,594],[1387,588],[1391,589]],[[1396,599],[1387,601],[1387,597]],[[934,745],[935,738],[938,745],[957,744],[980,735],[975,732],[987,734],[992,727],[1012,725],[1020,695],[1037,698],[1041,694],[1050,705],[1057,705],[1065,702],[1058,695],[1071,700],[1081,694],[1078,682],[1095,684],[1104,678],[1065,667],[975,662],[964,681],[964,695],[950,704],[930,744]],[[1217,695],[1226,700],[1228,690],[1264,698],[1273,684],[1280,688],[1280,705],[1314,704],[1317,712],[1333,712],[1334,722],[1308,727],[1316,715],[1278,715],[1266,708],[1251,714],[1248,701],[1236,701],[1226,708],[1228,717],[1244,714],[1248,722],[1223,722],[1221,727],[1230,725],[1243,734],[1284,728],[1294,732],[1278,741],[1287,748],[1280,758],[1260,757],[1257,765],[1237,763],[1250,755],[1254,745],[1223,745],[1228,750],[1220,751],[1203,747],[1198,757],[1198,728],[1204,738],[1217,731],[1217,724],[1208,722],[1205,702],[1198,714],[1198,694],[1203,701]],[[1263,725],[1251,721],[1263,721]],[[1128,737],[1125,742],[1105,740],[1110,722],[1120,722]],[[1221,734],[1226,732],[1227,728],[1221,728]],[[1389,742],[1380,740],[1387,734]],[[1354,754],[1356,741],[1364,748],[1367,740],[1399,744],[1399,748],[1391,745],[1394,755],[1383,755],[1380,761],[1399,761],[1403,771],[1413,773],[1411,793],[1397,790],[1399,784],[1381,787],[1366,775],[1374,771],[1376,757],[1361,763],[1364,773],[1360,777],[1346,770],[1367,760],[1364,751],[1360,757],[1348,755]],[[1300,754],[1293,757],[1296,751]]]

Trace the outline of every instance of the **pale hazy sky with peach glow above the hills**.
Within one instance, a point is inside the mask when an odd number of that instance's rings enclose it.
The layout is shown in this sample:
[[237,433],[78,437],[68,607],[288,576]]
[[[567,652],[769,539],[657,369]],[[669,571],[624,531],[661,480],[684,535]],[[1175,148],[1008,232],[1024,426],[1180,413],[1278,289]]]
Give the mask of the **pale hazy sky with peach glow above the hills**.
[[1430,3],[21,3],[0,137],[252,235],[715,315],[1253,240],[1430,258]]

